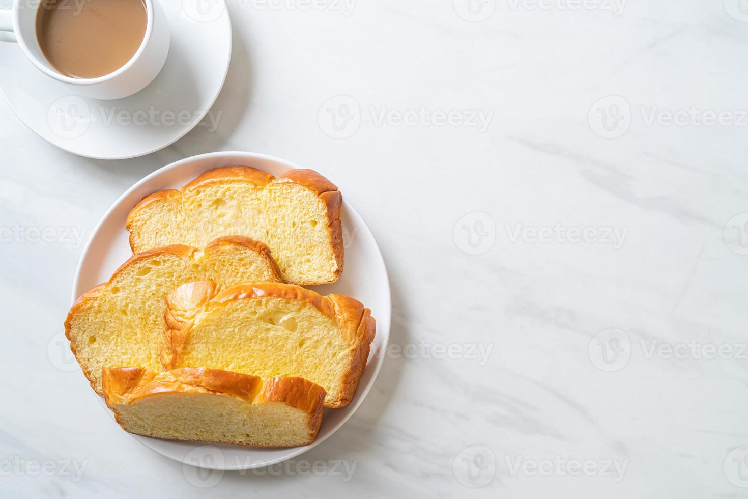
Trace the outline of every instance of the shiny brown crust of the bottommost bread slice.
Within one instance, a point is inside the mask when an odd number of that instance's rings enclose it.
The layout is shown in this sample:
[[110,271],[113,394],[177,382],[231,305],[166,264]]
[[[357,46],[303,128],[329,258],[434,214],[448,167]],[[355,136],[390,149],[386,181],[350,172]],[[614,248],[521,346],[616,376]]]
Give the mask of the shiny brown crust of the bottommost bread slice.
[[[159,376],[161,379],[156,379]],[[115,408],[129,405],[139,399],[156,394],[216,394],[242,399],[247,403],[283,402],[308,414],[307,427],[310,438],[315,441],[322,424],[322,406],[325,390],[319,385],[298,377],[275,377],[260,379],[248,374],[208,369],[182,367],[157,373],[144,367],[102,368],[102,387],[107,406],[114,412],[114,419],[125,431],[126,423]],[[149,435],[145,435],[149,436]],[[251,447],[295,447],[271,444],[241,444],[232,441],[210,441],[217,444],[233,444]],[[299,443],[302,444],[302,443]]]

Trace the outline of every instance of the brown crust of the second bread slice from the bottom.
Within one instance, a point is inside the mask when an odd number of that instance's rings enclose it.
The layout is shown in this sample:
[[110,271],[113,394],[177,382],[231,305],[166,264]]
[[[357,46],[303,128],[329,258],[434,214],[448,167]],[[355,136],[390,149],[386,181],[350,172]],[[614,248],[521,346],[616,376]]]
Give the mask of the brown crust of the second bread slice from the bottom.
[[175,369],[180,364],[195,317],[204,310],[225,307],[231,301],[274,297],[293,301],[306,301],[320,312],[334,319],[349,344],[350,364],[343,379],[340,399],[327,402],[325,407],[343,407],[351,402],[358,380],[364,373],[369,357],[370,343],[374,340],[376,321],[371,310],[361,301],[343,295],[321,296],[293,284],[255,282],[232,286],[217,293],[212,281],[183,284],[166,297],[164,346],[162,364],[165,369]]

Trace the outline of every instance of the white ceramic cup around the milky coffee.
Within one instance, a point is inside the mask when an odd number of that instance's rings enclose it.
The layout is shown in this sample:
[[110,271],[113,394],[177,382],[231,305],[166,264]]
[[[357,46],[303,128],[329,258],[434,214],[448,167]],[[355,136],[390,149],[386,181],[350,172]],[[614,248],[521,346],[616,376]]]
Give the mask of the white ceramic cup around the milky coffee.
[[104,100],[127,97],[153,82],[164,66],[171,39],[169,22],[158,0],[143,0],[148,16],[145,36],[138,51],[123,67],[98,78],[72,78],[61,74],[46,60],[37,40],[37,10],[43,1],[13,0],[13,7],[0,10],[0,40],[18,43],[31,64],[70,87],[76,95]]

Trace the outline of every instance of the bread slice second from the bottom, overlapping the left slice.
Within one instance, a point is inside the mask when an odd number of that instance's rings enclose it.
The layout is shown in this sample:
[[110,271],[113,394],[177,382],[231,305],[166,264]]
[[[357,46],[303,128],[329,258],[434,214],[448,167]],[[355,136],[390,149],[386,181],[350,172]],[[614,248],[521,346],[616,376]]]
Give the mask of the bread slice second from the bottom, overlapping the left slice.
[[325,388],[325,407],[353,398],[374,339],[371,310],[348,296],[255,282],[218,293],[184,284],[167,299],[162,363],[255,376],[301,376]]

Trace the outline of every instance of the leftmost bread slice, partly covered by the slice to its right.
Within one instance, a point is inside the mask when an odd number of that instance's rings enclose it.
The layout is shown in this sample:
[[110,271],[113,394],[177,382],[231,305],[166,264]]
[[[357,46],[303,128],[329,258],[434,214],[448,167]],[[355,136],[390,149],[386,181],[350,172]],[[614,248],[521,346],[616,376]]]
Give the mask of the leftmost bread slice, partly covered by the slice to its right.
[[70,348],[99,395],[103,366],[161,370],[164,297],[180,284],[212,279],[225,285],[280,281],[261,242],[221,237],[199,251],[172,245],[135,254],[105,283],[81,296],[65,321]]

